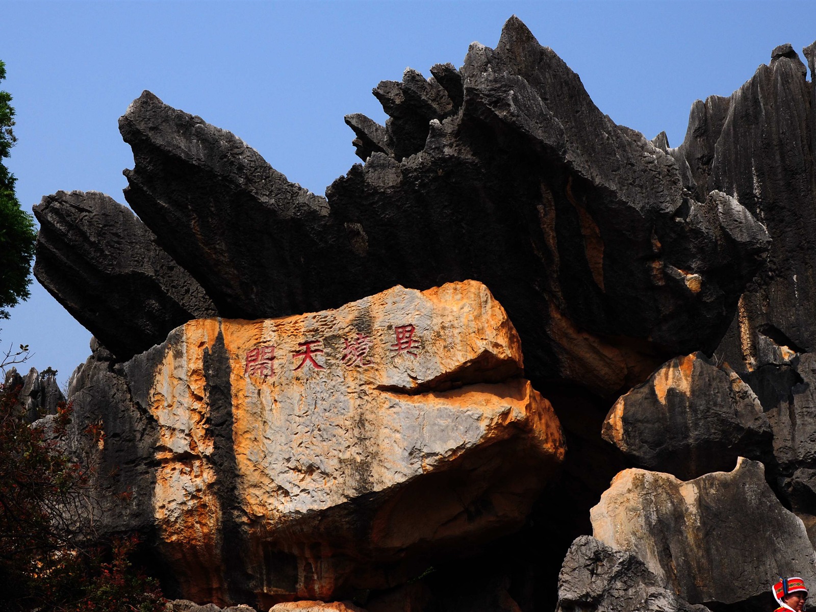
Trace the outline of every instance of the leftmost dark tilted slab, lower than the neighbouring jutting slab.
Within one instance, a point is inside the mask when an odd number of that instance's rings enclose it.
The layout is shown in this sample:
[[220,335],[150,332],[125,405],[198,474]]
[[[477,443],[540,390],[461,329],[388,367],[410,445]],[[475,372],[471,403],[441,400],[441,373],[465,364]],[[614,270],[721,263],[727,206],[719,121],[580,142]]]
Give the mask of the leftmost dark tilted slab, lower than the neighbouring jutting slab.
[[215,316],[201,286],[111,197],[59,191],[33,211],[40,222],[34,276],[120,359],[190,319]]

